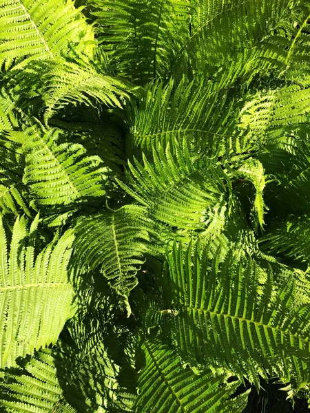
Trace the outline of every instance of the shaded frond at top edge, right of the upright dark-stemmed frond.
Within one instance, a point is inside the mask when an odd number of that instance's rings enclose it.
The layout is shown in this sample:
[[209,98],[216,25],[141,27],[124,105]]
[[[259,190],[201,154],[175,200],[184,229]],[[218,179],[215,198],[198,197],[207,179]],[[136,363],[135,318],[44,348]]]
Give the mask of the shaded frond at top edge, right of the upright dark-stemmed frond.
[[[272,6],[268,0],[198,1],[198,5],[192,35],[178,52],[176,67],[228,87],[238,77],[251,79],[266,65],[269,70],[278,65],[280,47],[276,54],[265,39],[291,11],[293,1],[276,0]],[[284,53],[280,61],[284,63]]]

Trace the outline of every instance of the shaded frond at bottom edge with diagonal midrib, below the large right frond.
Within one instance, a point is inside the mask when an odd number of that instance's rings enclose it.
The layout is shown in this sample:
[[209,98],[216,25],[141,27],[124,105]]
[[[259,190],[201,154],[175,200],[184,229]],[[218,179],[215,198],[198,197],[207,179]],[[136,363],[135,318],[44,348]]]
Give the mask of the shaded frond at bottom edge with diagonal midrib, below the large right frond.
[[249,391],[230,396],[241,384],[231,374],[209,370],[196,374],[182,366],[177,354],[161,343],[142,343],[145,367],[138,379],[136,413],[196,412],[237,413],[247,404]]

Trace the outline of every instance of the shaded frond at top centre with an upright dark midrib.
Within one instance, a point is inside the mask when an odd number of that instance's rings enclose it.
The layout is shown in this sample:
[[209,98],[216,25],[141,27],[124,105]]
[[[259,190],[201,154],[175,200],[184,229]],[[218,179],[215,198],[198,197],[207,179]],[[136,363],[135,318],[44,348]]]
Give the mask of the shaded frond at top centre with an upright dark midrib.
[[104,50],[118,72],[141,85],[169,76],[174,54],[189,36],[192,3],[185,0],[91,2]]

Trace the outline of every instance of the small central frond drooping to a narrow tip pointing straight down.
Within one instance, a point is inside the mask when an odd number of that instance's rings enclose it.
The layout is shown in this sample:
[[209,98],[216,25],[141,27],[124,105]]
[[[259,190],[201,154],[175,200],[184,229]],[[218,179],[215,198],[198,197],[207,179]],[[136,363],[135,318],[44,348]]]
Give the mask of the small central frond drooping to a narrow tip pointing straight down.
[[145,210],[133,205],[81,217],[75,227],[74,260],[86,268],[99,267],[127,303],[130,290],[138,284],[135,275],[147,251],[150,226]]

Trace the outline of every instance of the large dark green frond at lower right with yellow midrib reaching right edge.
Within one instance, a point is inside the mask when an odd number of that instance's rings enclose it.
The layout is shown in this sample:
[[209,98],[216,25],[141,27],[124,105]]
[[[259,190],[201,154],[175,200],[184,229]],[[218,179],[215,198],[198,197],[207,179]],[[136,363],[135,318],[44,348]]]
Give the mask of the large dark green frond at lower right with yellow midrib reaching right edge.
[[272,272],[265,282],[256,263],[230,253],[211,262],[198,247],[174,245],[168,256],[172,282],[173,335],[183,356],[226,367],[258,385],[258,374],[309,381],[310,315],[293,306],[293,280],[280,288]]

